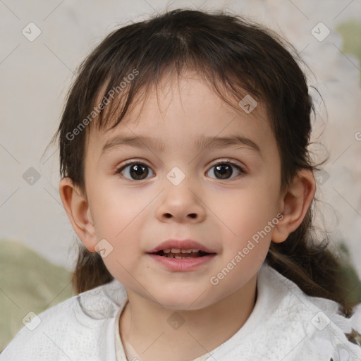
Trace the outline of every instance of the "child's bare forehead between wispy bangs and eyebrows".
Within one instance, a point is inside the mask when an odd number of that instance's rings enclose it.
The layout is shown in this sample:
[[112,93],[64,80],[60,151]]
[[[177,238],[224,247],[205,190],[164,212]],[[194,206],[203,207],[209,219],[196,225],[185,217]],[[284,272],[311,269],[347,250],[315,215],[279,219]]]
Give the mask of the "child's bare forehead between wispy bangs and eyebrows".
[[[164,77],[157,87],[153,85],[133,99],[132,109],[115,128],[91,127],[88,149],[101,154],[109,140],[118,135],[138,137],[139,142],[142,137],[152,138],[149,144],[163,149],[169,145],[192,146],[192,143],[199,148],[202,140],[198,136],[272,136],[264,104],[259,102],[247,113],[237,99],[232,102],[234,107],[224,102],[196,73]],[[115,123],[116,113],[107,121]]]

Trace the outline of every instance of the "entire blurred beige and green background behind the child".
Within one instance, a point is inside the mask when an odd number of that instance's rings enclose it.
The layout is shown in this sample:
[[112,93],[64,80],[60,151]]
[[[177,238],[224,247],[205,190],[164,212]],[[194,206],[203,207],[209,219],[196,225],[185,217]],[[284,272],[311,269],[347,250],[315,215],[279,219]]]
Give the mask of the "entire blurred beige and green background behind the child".
[[77,237],[45,152],[82,59],[109,32],[166,9],[223,9],[276,30],[309,68],[317,116],[316,224],[344,257],[361,302],[360,0],[0,0],[0,350],[31,317],[73,295]]

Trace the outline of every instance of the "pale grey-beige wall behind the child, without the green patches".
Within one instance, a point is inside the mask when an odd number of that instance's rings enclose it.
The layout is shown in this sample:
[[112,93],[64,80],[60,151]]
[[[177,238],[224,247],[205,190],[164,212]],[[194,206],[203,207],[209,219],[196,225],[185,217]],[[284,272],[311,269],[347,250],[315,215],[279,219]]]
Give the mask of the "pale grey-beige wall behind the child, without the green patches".
[[[360,62],[343,54],[335,31],[345,21],[361,20],[360,0],[1,0],[0,238],[24,243],[71,269],[76,235],[59,197],[58,152],[52,147],[43,158],[42,154],[59,124],[73,73],[119,25],[183,6],[224,8],[249,16],[301,51],[314,73],[310,84],[324,98],[324,104],[315,98],[319,115],[313,137],[330,154],[324,166],[330,177],[319,185],[322,203],[317,217],[324,216],[331,236],[348,245],[361,276],[361,141],[355,137],[361,132]],[[33,42],[22,34],[30,22],[41,30]],[[322,42],[311,33],[319,22],[331,30]],[[315,150],[321,159],[324,148]],[[33,185],[23,179],[30,167],[41,176]]]

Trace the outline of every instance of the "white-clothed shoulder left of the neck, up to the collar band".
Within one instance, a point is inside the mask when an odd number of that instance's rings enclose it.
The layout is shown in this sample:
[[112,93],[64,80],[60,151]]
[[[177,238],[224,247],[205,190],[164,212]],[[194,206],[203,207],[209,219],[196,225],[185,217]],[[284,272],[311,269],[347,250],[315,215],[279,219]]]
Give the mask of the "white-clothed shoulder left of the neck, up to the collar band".
[[0,360],[106,359],[104,352],[111,352],[106,344],[113,339],[112,321],[125,301],[125,288],[113,280],[33,314],[1,353]]

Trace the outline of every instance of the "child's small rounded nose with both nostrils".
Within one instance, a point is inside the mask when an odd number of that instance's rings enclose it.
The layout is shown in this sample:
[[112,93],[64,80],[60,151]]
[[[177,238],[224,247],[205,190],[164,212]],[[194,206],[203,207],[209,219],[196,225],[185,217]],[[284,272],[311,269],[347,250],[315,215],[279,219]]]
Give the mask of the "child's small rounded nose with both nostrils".
[[161,192],[157,218],[162,222],[199,223],[204,221],[206,206],[200,192],[192,190],[187,178],[179,185],[171,183]]

